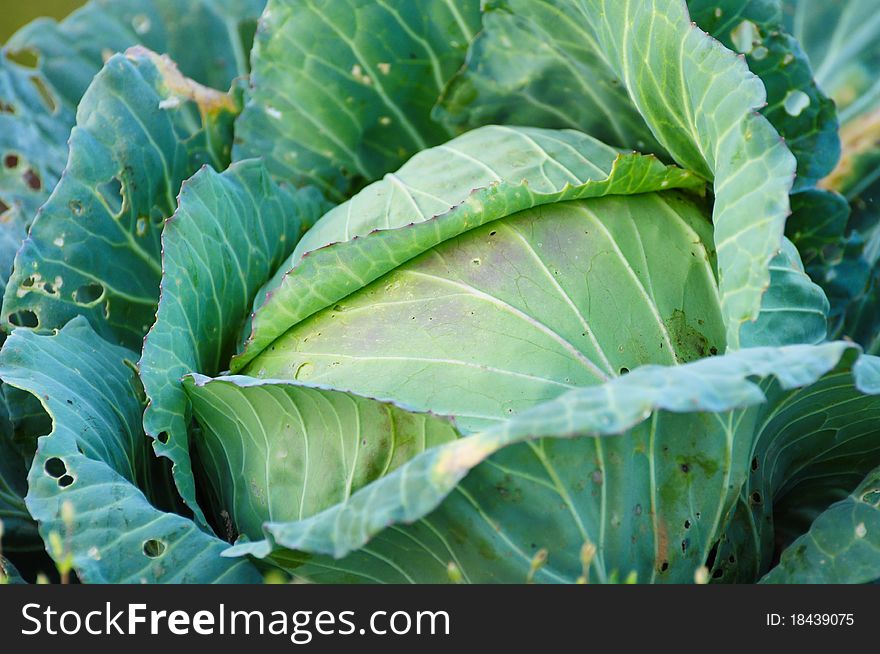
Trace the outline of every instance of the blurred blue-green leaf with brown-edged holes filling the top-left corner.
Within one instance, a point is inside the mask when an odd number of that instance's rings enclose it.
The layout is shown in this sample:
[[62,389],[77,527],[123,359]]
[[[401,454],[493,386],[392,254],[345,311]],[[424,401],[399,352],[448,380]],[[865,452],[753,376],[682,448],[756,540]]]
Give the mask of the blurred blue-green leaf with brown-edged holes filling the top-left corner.
[[61,176],[76,107],[105,60],[143,44],[169,54],[196,81],[228,88],[248,71],[264,2],[97,0],[61,23],[38,19],[9,40],[0,56],[0,290]]

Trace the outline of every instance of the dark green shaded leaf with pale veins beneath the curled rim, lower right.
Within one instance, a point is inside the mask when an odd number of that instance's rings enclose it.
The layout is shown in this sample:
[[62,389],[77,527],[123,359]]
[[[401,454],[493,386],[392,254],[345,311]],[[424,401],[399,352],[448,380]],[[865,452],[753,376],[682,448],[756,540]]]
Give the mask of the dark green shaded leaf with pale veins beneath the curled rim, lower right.
[[713,578],[760,578],[781,547],[853,492],[876,465],[880,359],[863,356],[855,372],[857,387],[848,372],[838,371],[808,389],[767,389],[771,399],[759,418],[749,478],[713,557]]

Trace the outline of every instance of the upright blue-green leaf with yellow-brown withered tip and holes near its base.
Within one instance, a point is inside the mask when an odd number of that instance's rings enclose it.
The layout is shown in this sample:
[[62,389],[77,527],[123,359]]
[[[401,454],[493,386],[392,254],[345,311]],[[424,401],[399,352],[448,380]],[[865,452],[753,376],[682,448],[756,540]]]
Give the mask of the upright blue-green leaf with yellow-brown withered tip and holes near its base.
[[142,48],[112,57],[83,97],[62,181],[16,255],[3,322],[40,331],[84,315],[138,347],[153,322],[160,232],[181,182],[223,168],[236,104]]

